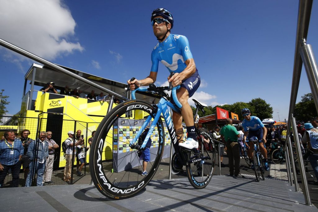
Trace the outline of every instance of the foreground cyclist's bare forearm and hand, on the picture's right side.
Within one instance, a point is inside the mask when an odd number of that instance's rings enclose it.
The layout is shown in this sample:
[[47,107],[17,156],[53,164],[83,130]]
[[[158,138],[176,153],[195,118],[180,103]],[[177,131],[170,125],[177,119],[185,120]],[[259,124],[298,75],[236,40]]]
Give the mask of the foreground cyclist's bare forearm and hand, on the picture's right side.
[[196,72],[196,64],[193,58],[187,59],[185,64],[187,67],[182,72],[175,73],[171,78],[168,77],[168,82],[172,82],[173,87],[181,85],[184,79],[188,79]]

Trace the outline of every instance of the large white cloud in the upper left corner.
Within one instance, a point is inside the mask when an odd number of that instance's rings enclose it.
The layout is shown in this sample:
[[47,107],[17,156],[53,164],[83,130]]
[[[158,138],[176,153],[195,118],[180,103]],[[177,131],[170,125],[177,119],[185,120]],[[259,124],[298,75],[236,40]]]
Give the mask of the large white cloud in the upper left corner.
[[60,0],[1,1],[0,20],[0,38],[45,59],[84,50],[68,41],[76,23]]

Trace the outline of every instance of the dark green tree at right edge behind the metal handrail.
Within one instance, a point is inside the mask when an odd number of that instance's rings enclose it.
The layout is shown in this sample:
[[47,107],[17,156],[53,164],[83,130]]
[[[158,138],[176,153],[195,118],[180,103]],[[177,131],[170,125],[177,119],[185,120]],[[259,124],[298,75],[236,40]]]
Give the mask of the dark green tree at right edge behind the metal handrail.
[[317,117],[315,101],[312,93],[301,96],[301,101],[295,105],[294,117],[298,121],[307,122]]

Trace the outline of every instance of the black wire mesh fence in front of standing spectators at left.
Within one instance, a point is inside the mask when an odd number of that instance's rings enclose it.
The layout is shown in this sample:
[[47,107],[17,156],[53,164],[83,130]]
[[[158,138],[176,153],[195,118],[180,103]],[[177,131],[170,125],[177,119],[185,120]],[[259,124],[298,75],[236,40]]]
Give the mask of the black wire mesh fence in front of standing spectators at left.
[[[2,120],[0,136],[4,136],[8,131],[14,132],[15,138],[18,140],[15,140],[13,144],[15,152],[13,155],[19,157],[19,151],[22,154],[21,160],[14,161],[14,157],[11,155],[12,150],[10,150],[12,144],[7,141],[10,138],[2,137],[0,157],[1,161],[4,161],[2,163],[5,170],[0,171],[1,187],[25,186],[28,177],[30,182],[26,186],[73,184],[88,173],[89,168],[86,166],[89,156],[88,140],[99,123],[63,120],[60,117],[62,116],[54,118],[0,117]],[[69,152],[64,154],[62,143],[69,138],[68,132],[70,131],[74,133],[74,137],[70,141],[73,146],[69,148]],[[41,151],[46,146],[43,145],[44,142],[41,142],[43,133],[49,153],[45,162],[40,161]],[[83,136],[83,142],[75,146],[79,140],[78,136]],[[54,144],[56,145],[54,146]],[[29,147],[31,148],[29,149]],[[83,156],[81,161],[84,162],[84,165],[79,160],[79,157]],[[11,161],[14,166],[8,161]],[[41,164],[41,162],[44,163]]]

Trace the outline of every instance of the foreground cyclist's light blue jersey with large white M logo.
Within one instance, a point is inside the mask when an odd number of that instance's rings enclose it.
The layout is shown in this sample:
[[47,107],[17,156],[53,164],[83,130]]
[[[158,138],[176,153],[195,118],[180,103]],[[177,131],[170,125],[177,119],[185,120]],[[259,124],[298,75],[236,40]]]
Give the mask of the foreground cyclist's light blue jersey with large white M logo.
[[158,72],[159,61],[169,72],[180,73],[187,65],[185,61],[191,59],[189,41],[183,35],[170,34],[164,42],[158,42],[151,52],[151,72]]

